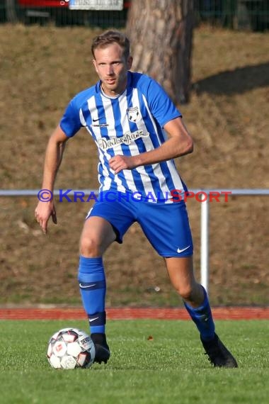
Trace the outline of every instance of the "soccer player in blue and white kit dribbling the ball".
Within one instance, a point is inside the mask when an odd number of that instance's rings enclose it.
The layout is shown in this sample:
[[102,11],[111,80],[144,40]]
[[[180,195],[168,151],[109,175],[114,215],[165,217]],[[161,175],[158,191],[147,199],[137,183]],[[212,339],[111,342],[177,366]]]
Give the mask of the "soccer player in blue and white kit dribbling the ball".
[[[164,257],[171,283],[198,327],[211,363],[237,367],[214,331],[207,292],[193,273],[193,241],[181,198],[186,186],[173,161],[193,152],[193,140],[181,113],[157,82],[130,71],[132,57],[125,35],[105,31],[94,38],[91,51],[100,81],[74,96],[52,133],[42,189],[53,191],[64,145],[85,127],[98,147],[101,184],[98,201],[88,212],[81,233],[78,275],[96,345],[95,361],[106,363],[110,357],[102,257],[108,246],[114,241],[121,243],[128,228],[137,222]],[[57,223],[54,202],[40,201],[35,218],[44,232],[50,216]]]

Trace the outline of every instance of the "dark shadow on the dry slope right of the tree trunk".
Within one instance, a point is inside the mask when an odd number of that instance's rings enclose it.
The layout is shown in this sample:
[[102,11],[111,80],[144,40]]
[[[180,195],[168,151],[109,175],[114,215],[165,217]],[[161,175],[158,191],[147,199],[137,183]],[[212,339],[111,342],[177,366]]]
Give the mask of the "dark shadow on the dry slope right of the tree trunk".
[[269,62],[239,67],[193,83],[198,94],[241,94],[265,86],[269,86]]

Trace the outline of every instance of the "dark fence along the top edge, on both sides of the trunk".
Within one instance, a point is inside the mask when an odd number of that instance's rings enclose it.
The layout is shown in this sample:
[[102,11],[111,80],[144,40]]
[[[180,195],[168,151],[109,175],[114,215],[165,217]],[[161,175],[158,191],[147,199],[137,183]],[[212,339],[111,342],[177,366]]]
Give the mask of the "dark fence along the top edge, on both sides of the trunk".
[[[0,22],[40,23],[53,21],[57,26],[84,25],[123,27],[131,1],[113,1],[122,10],[70,9],[80,0],[0,0]],[[98,4],[98,1],[82,2]],[[135,1],[135,0],[132,0]],[[100,1],[99,1],[100,2]],[[109,0],[103,0],[109,4]],[[269,0],[194,0],[195,23],[233,29],[268,30]]]

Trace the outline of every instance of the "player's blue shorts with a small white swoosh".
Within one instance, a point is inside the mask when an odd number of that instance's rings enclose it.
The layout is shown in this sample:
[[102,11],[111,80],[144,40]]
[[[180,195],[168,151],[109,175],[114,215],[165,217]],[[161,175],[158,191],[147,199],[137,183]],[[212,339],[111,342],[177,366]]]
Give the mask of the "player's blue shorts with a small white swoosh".
[[137,222],[161,257],[193,255],[193,240],[184,201],[151,203],[126,198],[125,193],[118,195],[114,198],[116,200],[98,199],[86,219],[99,216],[108,220],[119,243],[122,243],[122,237],[130,226]]

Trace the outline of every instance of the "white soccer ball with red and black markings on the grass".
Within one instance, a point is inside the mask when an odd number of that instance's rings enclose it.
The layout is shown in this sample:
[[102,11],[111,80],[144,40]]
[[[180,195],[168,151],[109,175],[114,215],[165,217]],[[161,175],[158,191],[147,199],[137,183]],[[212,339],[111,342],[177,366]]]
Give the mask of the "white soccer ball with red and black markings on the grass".
[[47,359],[54,369],[88,368],[93,364],[96,349],[91,337],[77,328],[55,332],[47,347]]

